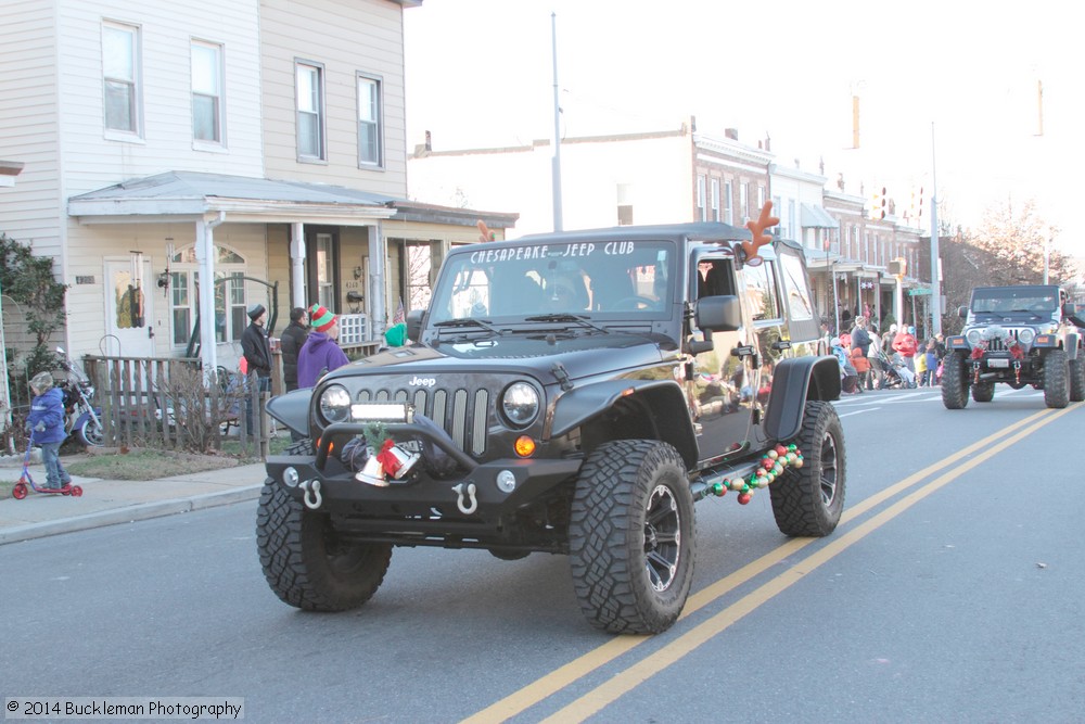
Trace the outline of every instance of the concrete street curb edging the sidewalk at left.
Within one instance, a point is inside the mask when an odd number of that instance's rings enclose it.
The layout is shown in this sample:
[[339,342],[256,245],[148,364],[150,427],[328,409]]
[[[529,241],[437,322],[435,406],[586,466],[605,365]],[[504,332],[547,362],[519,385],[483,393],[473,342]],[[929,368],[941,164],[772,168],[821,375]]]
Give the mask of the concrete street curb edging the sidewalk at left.
[[0,530],[0,545],[7,543],[18,543],[21,541],[31,541],[43,538],[61,533],[74,533],[76,531],[87,531],[93,528],[105,525],[117,525],[119,523],[131,523],[137,520],[148,520],[150,518],[163,518],[179,512],[190,512],[203,510],[205,508],[216,508],[218,506],[255,500],[260,496],[260,485],[250,485],[247,487],[235,487],[220,493],[205,493],[194,495],[189,498],[174,498],[171,500],[156,500],[155,503],[140,503],[138,505],[118,508],[116,510],[101,510],[99,512],[87,513],[86,516],[75,516],[73,518],[62,518],[43,523],[31,523],[29,525],[18,525]]

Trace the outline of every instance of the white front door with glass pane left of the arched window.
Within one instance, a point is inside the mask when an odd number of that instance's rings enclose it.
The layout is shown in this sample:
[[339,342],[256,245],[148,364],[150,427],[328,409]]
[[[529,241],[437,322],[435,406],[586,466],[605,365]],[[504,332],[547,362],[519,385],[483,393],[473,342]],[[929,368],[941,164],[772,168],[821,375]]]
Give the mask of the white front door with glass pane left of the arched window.
[[105,338],[101,354],[124,357],[154,356],[154,293],[148,289],[151,263],[143,262],[143,280],[132,280],[129,259],[105,263]]

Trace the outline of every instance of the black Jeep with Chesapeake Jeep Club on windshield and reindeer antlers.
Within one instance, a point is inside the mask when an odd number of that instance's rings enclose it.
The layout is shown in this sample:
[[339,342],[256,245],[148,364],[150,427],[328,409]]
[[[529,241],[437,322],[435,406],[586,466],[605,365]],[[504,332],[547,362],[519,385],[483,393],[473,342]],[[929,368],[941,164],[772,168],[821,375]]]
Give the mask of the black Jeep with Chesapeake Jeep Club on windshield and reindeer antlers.
[[542,551],[571,557],[593,625],[656,633],[689,595],[694,501],[767,486],[784,534],[831,533],[840,367],[815,354],[802,249],[750,237],[680,224],[452,250],[413,343],[268,404],[308,435],[267,461],[272,590],[345,610],[395,546]]

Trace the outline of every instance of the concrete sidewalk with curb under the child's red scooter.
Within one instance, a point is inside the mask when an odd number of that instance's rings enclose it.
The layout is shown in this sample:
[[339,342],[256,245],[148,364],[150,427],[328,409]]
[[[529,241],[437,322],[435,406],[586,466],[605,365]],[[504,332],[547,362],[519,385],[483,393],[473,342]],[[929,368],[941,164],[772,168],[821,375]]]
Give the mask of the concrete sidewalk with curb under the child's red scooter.
[[[0,465],[0,480],[18,480],[22,470],[22,459],[7,461]],[[34,482],[44,485],[44,467],[39,462],[29,470]],[[73,484],[82,487],[80,497],[31,490],[22,500],[0,500],[0,545],[253,500],[265,478],[263,462],[145,481],[73,475]]]

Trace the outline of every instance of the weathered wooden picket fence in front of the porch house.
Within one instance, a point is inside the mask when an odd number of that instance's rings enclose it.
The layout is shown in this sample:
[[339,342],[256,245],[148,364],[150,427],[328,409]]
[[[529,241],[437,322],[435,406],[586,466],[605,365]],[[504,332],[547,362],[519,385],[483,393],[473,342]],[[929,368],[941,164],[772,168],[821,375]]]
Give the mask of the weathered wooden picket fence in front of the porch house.
[[[87,355],[84,369],[107,446],[206,452],[235,436],[242,455],[268,455],[270,393],[258,390],[255,374],[220,367],[206,376],[197,357]],[[258,424],[248,424],[250,410]]]

